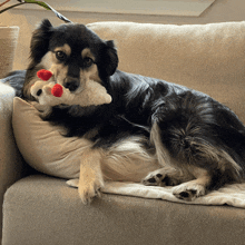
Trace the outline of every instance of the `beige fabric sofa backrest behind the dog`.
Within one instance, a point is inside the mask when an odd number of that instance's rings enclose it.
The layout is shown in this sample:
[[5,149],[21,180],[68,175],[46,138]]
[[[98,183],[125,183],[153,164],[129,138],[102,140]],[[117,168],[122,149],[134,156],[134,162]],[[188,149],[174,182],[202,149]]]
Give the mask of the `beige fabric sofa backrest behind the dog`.
[[245,22],[88,24],[118,47],[119,69],[208,94],[245,122]]

